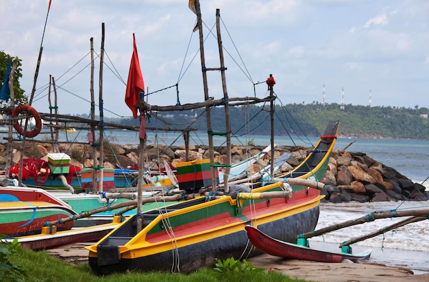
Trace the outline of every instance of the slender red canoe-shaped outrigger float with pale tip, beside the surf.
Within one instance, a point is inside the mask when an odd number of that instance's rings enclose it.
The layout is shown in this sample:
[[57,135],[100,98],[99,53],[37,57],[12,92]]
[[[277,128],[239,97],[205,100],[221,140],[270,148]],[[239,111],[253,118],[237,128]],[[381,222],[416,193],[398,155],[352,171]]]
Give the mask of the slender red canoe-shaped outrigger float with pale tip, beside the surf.
[[326,251],[293,244],[272,238],[251,225],[245,227],[250,242],[260,251],[285,259],[302,259],[307,261],[340,263],[344,259],[361,261],[371,256],[371,251],[362,253],[345,253],[342,251]]

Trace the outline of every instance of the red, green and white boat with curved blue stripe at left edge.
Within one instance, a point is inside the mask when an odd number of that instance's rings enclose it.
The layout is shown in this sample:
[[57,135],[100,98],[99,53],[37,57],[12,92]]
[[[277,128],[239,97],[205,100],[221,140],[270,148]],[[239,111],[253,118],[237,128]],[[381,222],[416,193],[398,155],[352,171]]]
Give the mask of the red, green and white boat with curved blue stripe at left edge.
[[[40,197],[39,197],[40,196]],[[45,222],[75,215],[69,205],[59,199],[34,193],[21,199],[14,193],[0,192],[0,234],[29,235],[40,233]],[[58,230],[73,227],[73,222],[58,225]]]

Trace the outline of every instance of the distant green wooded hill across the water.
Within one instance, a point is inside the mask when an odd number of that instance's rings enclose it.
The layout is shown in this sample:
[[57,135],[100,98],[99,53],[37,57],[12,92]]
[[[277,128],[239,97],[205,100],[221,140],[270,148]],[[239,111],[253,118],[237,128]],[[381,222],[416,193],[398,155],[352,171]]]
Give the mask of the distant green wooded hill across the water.
[[[211,110],[212,130],[225,131],[223,108]],[[429,139],[429,110],[426,107],[367,107],[345,105],[344,110],[336,103],[322,105],[288,104],[275,107],[275,135],[320,136],[329,120],[341,120],[340,136],[354,138]],[[204,109],[181,112],[158,112],[157,118],[149,118],[149,127],[184,129],[191,127],[206,131]],[[133,118],[104,118],[106,122],[138,126]],[[270,134],[269,105],[230,107],[232,132],[253,135]],[[247,125],[245,121],[248,121]]]

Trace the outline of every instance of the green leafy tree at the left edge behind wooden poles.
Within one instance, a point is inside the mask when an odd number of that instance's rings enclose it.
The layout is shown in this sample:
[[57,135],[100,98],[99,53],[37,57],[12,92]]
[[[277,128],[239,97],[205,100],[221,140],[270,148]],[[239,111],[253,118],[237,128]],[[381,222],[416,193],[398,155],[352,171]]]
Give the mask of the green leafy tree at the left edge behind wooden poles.
[[[0,51],[0,86],[3,86],[3,79],[6,75],[6,68],[8,67],[8,60],[10,62],[13,62],[13,60],[16,61],[16,70],[14,73],[14,102],[15,104],[25,104],[27,103],[28,99],[24,95],[25,90],[21,89],[21,86],[19,85],[19,79],[23,76],[21,74],[21,59],[19,57],[12,57],[9,54],[6,54],[4,51]],[[10,105],[9,101],[1,101],[0,107],[1,109],[5,109]]]

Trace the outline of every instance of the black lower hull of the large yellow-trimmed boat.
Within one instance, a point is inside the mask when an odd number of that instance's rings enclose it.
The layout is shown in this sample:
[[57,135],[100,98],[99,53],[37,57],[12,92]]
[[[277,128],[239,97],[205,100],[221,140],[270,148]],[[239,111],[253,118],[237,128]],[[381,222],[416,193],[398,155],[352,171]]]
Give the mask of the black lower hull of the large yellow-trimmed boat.
[[[294,240],[294,234],[299,233],[300,230],[305,229],[310,231],[314,229],[318,215],[319,207],[315,207],[302,214],[295,214],[288,218],[260,225],[259,228],[266,231],[278,229],[279,232],[275,235],[282,236],[284,240]],[[302,222],[305,222],[304,226]],[[244,226],[243,224],[241,231],[201,241],[191,246],[177,248],[177,250],[173,249],[134,259],[124,258],[119,261],[119,264],[99,266],[97,257],[89,257],[88,260],[90,267],[99,275],[110,274],[112,272],[125,272],[127,270],[143,272],[193,272],[199,268],[214,266],[216,259],[228,259],[229,257],[238,259],[260,255],[261,251],[253,249],[250,244],[247,244],[247,234]],[[290,232],[284,232],[281,229],[286,229]]]

